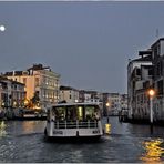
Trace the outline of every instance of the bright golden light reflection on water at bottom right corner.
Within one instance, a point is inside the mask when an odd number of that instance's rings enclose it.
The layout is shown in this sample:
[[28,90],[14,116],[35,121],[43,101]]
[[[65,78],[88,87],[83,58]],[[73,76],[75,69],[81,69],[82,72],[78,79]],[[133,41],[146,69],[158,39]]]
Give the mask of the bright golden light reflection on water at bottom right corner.
[[141,157],[143,162],[162,162],[164,148],[162,147],[164,141],[162,139],[143,142],[145,153]]

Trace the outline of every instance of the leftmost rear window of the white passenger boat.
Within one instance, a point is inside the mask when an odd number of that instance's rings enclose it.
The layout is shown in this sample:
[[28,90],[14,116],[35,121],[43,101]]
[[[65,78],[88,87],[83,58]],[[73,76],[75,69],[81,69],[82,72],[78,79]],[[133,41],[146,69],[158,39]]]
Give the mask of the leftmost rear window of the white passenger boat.
[[63,121],[65,120],[65,107],[64,106],[59,106],[54,109],[54,117],[55,120]]

